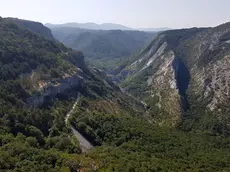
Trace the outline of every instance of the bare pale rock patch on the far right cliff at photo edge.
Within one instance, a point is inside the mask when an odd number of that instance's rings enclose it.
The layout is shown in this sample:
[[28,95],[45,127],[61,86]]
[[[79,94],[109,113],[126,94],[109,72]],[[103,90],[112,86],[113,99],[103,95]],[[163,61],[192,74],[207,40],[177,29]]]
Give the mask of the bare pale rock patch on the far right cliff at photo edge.
[[207,108],[213,111],[217,109],[218,104],[225,104],[230,99],[230,55],[226,55],[223,59],[210,63],[203,70],[194,68],[192,75],[198,83],[196,94],[200,94],[199,90],[203,90],[205,99],[210,99]]

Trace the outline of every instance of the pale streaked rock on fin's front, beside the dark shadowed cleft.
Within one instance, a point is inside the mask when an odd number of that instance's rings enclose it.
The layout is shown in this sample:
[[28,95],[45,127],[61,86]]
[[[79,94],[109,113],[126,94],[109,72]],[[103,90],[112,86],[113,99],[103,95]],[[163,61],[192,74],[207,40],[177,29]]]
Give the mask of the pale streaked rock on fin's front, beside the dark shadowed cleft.
[[[161,47],[164,47],[163,49],[166,48],[165,45]],[[158,60],[160,60],[161,63],[154,74],[148,77],[146,82],[147,86],[150,87],[150,96],[157,100],[155,105],[152,105],[159,109],[158,118],[160,120],[156,122],[162,125],[167,123],[173,126],[179,119],[179,115],[177,114],[180,114],[180,97],[176,86],[175,71],[173,69],[175,55],[173,51],[166,52],[163,50],[163,52],[158,52],[160,53],[153,55],[157,58],[155,58],[152,63],[154,65],[154,63],[158,63]],[[149,69],[146,67],[143,70]]]

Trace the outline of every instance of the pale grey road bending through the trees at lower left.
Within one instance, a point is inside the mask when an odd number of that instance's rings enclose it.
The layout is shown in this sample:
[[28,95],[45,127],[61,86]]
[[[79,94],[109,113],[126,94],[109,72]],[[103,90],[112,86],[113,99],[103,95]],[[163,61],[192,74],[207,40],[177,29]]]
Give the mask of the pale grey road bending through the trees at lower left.
[[[67,113],[67,115],[65,117],[66,125],[68,125],[69,117],[74,112],[74,110],[77,106],[77,103],[79,101],[79,98],[80,98],[80,94],[78,93],[77,99],[76,99],[75,103],[73,104],[72,109]],[[74,136],[79,141],[82,152],[87,152],[89,149],[93,148],[93,145],[81,133],[79,133],[72,125],[71,125],[71,129],[72,129]]]

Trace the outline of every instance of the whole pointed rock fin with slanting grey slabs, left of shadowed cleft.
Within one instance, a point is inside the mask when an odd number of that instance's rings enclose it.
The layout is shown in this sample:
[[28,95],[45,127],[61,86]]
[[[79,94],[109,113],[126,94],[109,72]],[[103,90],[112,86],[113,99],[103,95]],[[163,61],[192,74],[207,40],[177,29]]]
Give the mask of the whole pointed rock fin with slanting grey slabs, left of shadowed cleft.
[[125,90],[132,93],[133,88],[138,89],[133,95],[148,104],[147,113],[155,123],[174,126],[182,111],[182,96],[178,89],[180,81],[177,80],[181,64],[163,36],[151,44],[153,47],[149,46],[141,53],[141,60],[128,67],[135,73]]

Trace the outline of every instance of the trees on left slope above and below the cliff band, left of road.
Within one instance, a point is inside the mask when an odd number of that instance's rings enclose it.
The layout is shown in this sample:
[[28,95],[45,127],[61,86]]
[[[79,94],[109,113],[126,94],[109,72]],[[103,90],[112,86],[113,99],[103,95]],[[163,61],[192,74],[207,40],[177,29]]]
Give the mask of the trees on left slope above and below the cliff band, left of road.
[[0,169],[57,171],[69,162],[64,152],[81,152],[64,123],[73,99],[31,108],[26,100],[34,89],[23,77],[35,73],[31,85],[36,86],[38,80],[56,80],[76,67],[64,60],[66,47],[11,20],[0,19],[0,36]]

